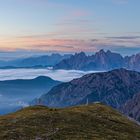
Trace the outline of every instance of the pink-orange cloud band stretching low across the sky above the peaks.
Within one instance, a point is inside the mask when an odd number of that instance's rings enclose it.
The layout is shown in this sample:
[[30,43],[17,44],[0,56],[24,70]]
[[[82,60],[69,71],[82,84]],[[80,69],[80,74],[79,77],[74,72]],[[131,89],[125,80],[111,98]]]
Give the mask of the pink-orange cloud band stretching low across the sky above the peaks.
[[[74,37],[75,38],[75,37]],[[1,51],[39,50],[39,51],[60,51],[60,52],[92,52],[106,46],[127,46],[140,45],[140,38],[116,39],[116,38],[94,38],[93,39],[70,39],[52,38],[47,35],[20,36],[0,39]]]

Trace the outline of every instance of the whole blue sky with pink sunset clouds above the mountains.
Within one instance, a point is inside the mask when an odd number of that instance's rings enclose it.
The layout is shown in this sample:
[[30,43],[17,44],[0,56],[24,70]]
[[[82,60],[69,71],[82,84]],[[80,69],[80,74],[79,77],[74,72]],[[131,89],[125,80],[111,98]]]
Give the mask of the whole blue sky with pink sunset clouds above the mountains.
[[139,14],[140,0],[0,0],[0,56],[138,53]]

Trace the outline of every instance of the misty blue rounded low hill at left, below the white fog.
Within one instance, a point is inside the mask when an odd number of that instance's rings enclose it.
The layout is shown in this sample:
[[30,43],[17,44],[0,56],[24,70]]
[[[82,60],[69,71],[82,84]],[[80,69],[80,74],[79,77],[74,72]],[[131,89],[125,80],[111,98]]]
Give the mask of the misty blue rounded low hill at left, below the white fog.
[[31,80],[0,81],[0,114],[28,105],[29,101],[58,84],[59,81],[44,76]]

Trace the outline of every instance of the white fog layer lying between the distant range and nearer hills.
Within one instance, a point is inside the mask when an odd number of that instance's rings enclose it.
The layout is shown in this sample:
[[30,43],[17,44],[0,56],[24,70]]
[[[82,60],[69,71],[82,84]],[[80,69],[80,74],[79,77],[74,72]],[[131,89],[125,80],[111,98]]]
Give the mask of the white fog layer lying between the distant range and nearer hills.
[[68,82],[87,73],[97,71],[52,70],[52,69],[0,69],[0,81],[14,79],[33,79],[38,76],[48,76],[54,80]]

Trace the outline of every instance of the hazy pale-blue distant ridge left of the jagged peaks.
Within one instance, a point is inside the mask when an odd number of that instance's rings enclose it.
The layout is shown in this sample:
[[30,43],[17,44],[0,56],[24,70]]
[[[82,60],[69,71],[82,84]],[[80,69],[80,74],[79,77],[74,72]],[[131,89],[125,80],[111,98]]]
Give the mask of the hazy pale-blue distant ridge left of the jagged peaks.
[[63,59],[69,58],[71,55],[52,54],[39,57],[29,57],[25,59],[17,59],[12,61],[0,61],[0,67],[34,67],[34,66],[54,66]]

